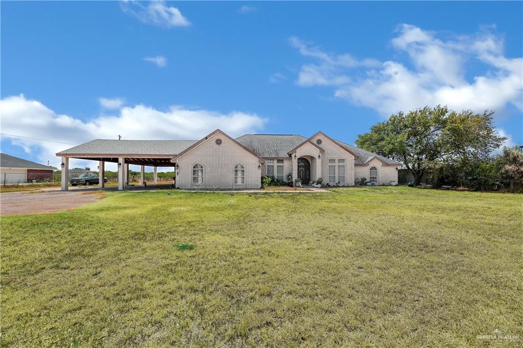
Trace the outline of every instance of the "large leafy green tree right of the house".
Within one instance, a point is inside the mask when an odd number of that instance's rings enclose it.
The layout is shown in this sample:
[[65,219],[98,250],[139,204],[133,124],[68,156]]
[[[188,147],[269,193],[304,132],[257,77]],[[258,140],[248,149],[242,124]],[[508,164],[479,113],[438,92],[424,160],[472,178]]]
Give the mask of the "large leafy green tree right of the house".
[[429,168],[463,158],[485,158],[501,146],[506,138],[497,134],[493,114],[456,112],[441,106],[399,112],[359,134],[356,144],[401,161],[417,185]]

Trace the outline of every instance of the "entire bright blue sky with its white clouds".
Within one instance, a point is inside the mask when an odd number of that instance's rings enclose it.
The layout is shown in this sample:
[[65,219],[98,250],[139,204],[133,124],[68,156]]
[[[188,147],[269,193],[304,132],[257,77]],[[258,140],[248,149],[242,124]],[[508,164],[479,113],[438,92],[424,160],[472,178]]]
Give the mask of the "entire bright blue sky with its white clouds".
[[[321,130],[400,110],[496,112],[523,141],[521,2],[2,2],[2,133],[200,138]],[[2,136],[46,163],[71,147]],[[78,162],[78,164],[84,164]]]

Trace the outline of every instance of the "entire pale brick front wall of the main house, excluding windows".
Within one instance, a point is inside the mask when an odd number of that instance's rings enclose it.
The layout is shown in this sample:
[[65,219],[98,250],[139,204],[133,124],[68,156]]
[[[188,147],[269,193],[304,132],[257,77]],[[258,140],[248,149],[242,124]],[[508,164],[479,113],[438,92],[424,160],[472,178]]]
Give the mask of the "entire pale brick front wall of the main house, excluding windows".
[[[217,138],[222,140],[221,145],[215,143]],[[318,139],[322,141],[321,144],[316,143]],[[336,160],[335,183],[338,182],[338,159],[345,160],[345,185],[347,186],[353,186],[361,177],[368,180],[369,169],[373,166],[378,169],[378,183],[389,185],[391,181],[398,180],[396,166],[383,165],[378,159],[372,159],[365,166],[355,166],[353,155],[322,134],[314,136],[311,142],[321,147],[323,152],[310,143],[304,143],[297,148],[291,157],[283,159],[284,180],[287,180],[289,173],[292,173],[292,180],[298,177],[300,157],[308,159],[311,163],[311,181],[321,177],[324,186],[328,182],[329,159]],[[321,159],[318,159],[319,155]],[[274,159],[276,177],[277,160],[282,158],[265,158],[267,159]],[[177,164],[176,187],[180,189],[259,189],[260,177],[267,175],[266,164],[261,164],[261,169],[258,169],[260,165],[258,157],[221,133],[209,136],[207,140],[179,157]],[[192,168],[196,164],[203,166],[203,184],[192,183]],[[242,164],[245,168],[245,184],[234,184],[234,167],[237,164]]]

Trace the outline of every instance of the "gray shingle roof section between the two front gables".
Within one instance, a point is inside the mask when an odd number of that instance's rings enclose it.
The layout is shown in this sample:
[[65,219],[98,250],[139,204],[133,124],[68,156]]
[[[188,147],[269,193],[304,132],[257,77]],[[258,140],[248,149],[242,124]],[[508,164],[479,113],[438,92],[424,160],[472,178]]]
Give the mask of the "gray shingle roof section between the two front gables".
[[260,157],[289,157],[288,152],[307,138],[301,135],[245,134],[235,140]]

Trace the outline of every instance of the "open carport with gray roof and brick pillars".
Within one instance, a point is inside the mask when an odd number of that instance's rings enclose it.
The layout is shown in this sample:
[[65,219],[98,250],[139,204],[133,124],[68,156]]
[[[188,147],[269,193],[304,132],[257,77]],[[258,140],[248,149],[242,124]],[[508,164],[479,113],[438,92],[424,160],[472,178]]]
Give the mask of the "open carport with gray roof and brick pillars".
[[129,165],[141,166],[144,182],[145,166],[153,167],[154,184],[157,184],[157,168],[177,167],[171,159],[187,147],[196,143],[192,140],[105,140],[97,139],[56,153],[62,158],[62,191],[69,190],[69,159],[98,161],[99,187],[104,187],[105,163],[116,163],[118,167],[118,190],[123,190],[129,179]]

